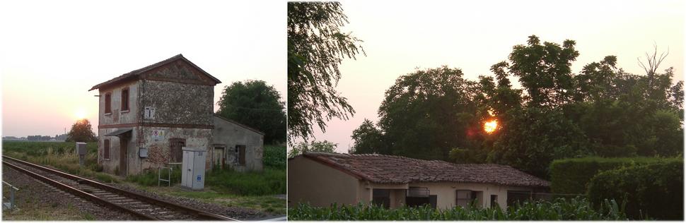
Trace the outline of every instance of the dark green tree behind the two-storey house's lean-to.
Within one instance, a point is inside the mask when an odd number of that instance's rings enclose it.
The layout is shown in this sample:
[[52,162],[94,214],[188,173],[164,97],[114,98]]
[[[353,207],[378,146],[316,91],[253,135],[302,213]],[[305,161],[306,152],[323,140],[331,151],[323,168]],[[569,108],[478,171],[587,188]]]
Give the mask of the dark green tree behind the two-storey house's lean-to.
[[216,114],[264,132],[264,143],[286,141],[286,111],[274,86],[263,80],[234,82],[224,88]]

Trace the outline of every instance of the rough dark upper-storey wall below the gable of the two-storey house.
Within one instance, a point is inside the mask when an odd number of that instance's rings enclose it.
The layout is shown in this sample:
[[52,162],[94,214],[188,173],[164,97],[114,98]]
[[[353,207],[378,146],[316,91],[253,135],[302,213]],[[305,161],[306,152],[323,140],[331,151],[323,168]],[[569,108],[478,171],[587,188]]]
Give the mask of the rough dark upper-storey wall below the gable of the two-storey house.
[[212,125],[214,86],[144,80],[141,107],[155,109],[146,123]]

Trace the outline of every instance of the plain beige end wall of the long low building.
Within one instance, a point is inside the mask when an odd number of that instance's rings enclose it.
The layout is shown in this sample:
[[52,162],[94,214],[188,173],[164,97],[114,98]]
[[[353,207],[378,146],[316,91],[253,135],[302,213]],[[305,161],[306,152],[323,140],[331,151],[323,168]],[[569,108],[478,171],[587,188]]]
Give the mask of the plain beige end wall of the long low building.
[[332,203],[356,204],[359,181],[348,174],[306,157],[288,161],[288,205],[310,203],[328,207]]

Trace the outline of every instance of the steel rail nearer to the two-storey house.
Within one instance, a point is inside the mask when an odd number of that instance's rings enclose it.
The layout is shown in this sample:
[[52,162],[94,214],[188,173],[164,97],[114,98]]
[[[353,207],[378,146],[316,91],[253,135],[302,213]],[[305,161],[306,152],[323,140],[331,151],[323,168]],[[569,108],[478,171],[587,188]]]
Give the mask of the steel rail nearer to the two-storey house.
[[[93,180],[91,180],[91,179],[86,179],[86,178],[83,178],[83,177],[81,177],[81,176],[76,176],[76,175],[73,175],[73,174],[67,174],[67,173],[64,173],[64,172],[62,172],[62,171],[58,171],[58,170],[55,170],[55,169],[50,169],[50,168],[43,167],[43,166],[40,166],[40,165],[37,165],[37,164],[33,164],[33,163],[30,163],[30,162],[25,162],[25,161],[23,161],[23,160],[21,160],[21,159],[16,159],[16,158],[13,158],[13,157],[8,157],[8,156],[5,156],[5,155],[3,155],[2,157],[3,157],[4,159],[11,159],[12,161],[20,162],[21,164],[25,164],[25,165],[28,165],[28,166],[30,166],[30,167],[34,167],[34,168],[36,168],[36,169],[41,169],[41,170],[43,170],[43,171],[48,171],[48,172],[50,172],[50,173],[52,173],[52,174],[56,174],[56,175],[58,175],[58,176],[62,176],[62,177],[64,177],[64,178],[66,178],[66,179],[71,179],[71,180],[77,181],[77,182],[79,182],[79,183],[81,183],[81,184],[86,184],[86,185],[88,185],[88,186],[93,186],[93,187],[95,187],[95,188],[100,188],[100,189],[103,189],[103,190],[105,190],[105,191],[110,191],[110,192],[112,192],[112,193],[117,193],[117,194],[120,194],[120,195],[124,195],[124,196],[127,196],[127,197],[129,197],[129,198],[134,198],[134,199],[136,199],[136,200],[143,200],[143,201],[146,201],[146,202],[148,202],[148,203],[153,203],[153,204],[155,204],[155,205],[159,205],[159,206],[162,206],[162,207],[170,207],[170,208],[172,208],[172,209],[178,210],[178,211],[180,211],[180,212],[185,212],[185,213],[187,213],[187,214],[189,214],[189,215],[194,215],[194,216],[199,217],[199,218],[202,218],[202,219],[221,220],[221,221],[238,221],[238,219],[233,219],[233,218],[231,218],[231,217],[226,217],[226,216],[223,216],[223,215],[216,215],[216,214],[212,214],[212,213],[209,213],[209,212],[204,212],[204,211],[202,211],[202,210],[197,210],[197,209],[192,208],[192,207],[185,207],[185,206],[178,205],[178,204],[175,204],[175,203],[170,203],[170,202],[165,201],[165,200],[160,200],[160,199],[157,199],[157,198],[151,198],[151,197],[149,197],[149,196],[147,196],[147,195],[143,195],[143,194],[141,194],[141,193],[136,193],[136,192],[134,192],[134,191],[122,190],[122,189],[120,189],[120,188],[116,188],[116,187],[113,187],[113,186],[109,186],[109,185],[106,185],[106,184],[104,184],[104,183],[100,183],[100,182],[98,182],[98,181],[93,181]],[[3,162],[4,162],[4,161],[3,161]],[[90,194],[89,194],[89,195],[90,195]]]

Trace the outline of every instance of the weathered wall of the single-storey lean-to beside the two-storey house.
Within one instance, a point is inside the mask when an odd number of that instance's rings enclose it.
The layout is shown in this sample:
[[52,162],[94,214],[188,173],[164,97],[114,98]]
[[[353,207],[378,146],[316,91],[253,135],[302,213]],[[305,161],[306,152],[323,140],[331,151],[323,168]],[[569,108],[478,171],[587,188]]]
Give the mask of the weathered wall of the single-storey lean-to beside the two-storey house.
[[[213,116],[213,144],[225,147],[226,165],[236,171],[262,171],[264,135]],[[245,166],[238,163],[236,145],[245,145]]]

